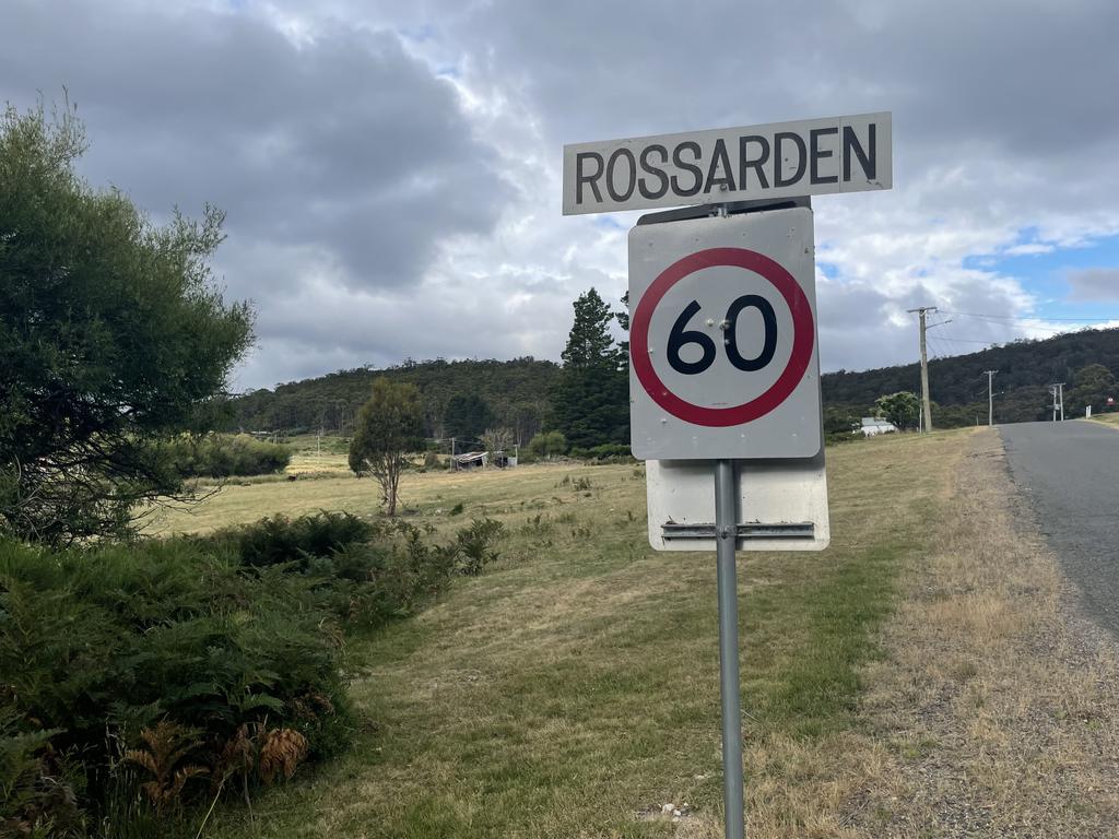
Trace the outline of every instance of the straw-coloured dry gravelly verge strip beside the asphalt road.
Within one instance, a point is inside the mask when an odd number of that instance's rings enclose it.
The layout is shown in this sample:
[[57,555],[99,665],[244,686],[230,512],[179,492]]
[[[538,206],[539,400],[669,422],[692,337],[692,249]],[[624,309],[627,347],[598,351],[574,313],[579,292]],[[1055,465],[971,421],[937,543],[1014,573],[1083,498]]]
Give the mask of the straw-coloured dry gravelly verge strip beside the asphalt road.
[[[953,515],[914,563],[864,670],[876,772],[859,836],[1119,832],[1119,661],[1080,618],[1016,498],[995,432],[971,437]],[[883,750],[884,747],[884,750]]]

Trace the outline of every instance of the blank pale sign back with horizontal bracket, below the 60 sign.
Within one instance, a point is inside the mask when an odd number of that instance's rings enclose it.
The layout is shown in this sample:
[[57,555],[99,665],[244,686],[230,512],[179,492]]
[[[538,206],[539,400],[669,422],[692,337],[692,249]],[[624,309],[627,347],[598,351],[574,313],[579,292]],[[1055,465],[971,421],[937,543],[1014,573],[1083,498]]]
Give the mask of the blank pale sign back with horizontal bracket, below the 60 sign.
[[[805,460],[740,461],[737,550],[822,550],[831,539],[824,452]],[[657,550],[715,549],[711,463],[646,463],[649,544]]]

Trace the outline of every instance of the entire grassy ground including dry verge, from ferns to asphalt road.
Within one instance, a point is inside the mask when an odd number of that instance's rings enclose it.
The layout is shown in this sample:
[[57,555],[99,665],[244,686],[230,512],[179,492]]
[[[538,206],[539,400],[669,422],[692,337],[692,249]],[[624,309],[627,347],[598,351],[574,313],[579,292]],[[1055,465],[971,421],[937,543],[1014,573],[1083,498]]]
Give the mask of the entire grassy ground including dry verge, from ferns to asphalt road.
[[[841,446],[828,470],[833,547],[740,558],[747,836],[1119,835],[1115,645],[1066,616],[995,433]],[[646,547],[643,488],[632,466],[410,475],[417,520],[499,518],[506,558],[356,641],[373,730],[217,835],[721,837],[713,562]],[[235,487],[170,525],[376,499]]]

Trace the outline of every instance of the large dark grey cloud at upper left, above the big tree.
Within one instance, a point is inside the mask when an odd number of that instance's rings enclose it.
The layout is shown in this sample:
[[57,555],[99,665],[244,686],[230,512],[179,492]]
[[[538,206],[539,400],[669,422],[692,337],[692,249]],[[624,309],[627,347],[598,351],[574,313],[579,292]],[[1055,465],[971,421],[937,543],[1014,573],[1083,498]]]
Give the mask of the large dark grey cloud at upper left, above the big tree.
[[[495,155],[395,35],[335,27],[297,47],[251,13],[154,9],[4,12],[20,37],[0,54],[0,95],[68,86],[91,181],[157,214],[215,204],[242,246],[320,248],[354,287],[415,283],[442,238],[495,223],[508,192]],[[238,287],[276,284],[242,268]]]

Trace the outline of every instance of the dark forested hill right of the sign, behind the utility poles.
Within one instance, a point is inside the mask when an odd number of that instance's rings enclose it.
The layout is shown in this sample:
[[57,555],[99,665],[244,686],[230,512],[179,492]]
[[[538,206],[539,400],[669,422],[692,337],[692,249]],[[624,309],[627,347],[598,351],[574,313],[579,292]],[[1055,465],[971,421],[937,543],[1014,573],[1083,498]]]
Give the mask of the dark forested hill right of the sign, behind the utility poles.
[[[915,351],[914,351],[914,355]],[[941,411],[938,425],[965,425],[975,415],[987,416],[987,376],[995,377],[996,422],[1028,422],[1046,416],[1049,385],[1065,383],[1065,405],[1076,384],[1076,373],[1090,365],[1119,370],[1119,329],[1085,330],[1041,341],[1015,341],[967,356],[938,358],[929,362],[929,390]],[[862,373],[827,374],[822,377],[824,404],[865,409],[885,394],[921,392],[921,368],[914,362]],[[1116,394],[1119,399],[1119,393]],[[1099,405],[1097,405],[1099,409]],[[934,412],[934,418],[937,418]]]

